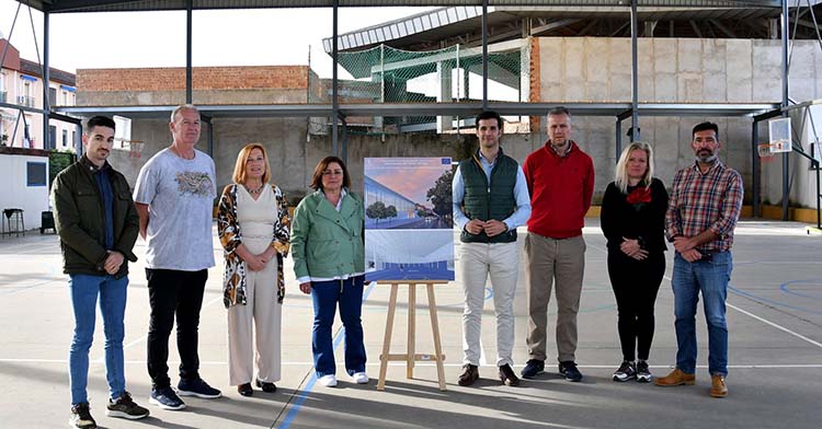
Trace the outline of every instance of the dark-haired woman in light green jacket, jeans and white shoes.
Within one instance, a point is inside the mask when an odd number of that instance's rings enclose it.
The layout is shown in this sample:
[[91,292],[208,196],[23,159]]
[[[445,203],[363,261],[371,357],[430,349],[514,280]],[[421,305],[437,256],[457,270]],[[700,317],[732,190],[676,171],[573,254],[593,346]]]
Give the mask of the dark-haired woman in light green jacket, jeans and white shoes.
[[294,211],[292,257],[299,289],[313,300],[311,351],[317,379],[324,386],[336,385],[331,326],[339,305],[345,326],[345,370],[354,382],[365,384],[363,200],[349,190],[349,171],[336,156],[317,164],[311,187],[315,192]]

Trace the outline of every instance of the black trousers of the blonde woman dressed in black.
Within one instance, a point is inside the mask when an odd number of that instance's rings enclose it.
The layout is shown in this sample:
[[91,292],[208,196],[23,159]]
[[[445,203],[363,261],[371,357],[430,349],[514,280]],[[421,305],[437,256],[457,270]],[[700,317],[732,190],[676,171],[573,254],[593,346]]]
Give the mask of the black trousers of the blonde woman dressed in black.
[[653,340],[653,306],[665,274],[665,253],[654,252],[637,260],[608,250],[608,277],[617,301],[617,329],[623,359],[648,360]]

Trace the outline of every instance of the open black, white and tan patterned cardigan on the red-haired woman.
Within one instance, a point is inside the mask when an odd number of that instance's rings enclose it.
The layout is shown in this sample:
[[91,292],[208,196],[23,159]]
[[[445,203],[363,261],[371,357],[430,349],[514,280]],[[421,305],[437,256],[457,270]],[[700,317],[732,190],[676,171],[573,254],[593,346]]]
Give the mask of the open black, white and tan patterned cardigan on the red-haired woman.
[[[240,185],[226,186],[217,207],[217,233],[225,250],[226,268],[222,274],[222,303],[226,309],[231,305],[246,305],[246,262],[235,252],[242,243],[240,222],[237,220],[237,189]],[[292,218],[288,215],[288,204],[283,192],[271,184],[277,200],[277,220],[274,224],[271,245],[277,251],[277,302],[283,303],[285,297],[285,277],[283,276],[283,258],[288,255],[290,246]]]

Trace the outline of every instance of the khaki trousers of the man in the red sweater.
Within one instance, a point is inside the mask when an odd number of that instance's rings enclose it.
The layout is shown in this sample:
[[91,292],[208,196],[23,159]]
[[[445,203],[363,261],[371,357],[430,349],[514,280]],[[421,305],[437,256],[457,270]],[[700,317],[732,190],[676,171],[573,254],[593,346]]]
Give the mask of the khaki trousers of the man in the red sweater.
[[585,271],[585,240],[582,235],[558,240],[528,232],[525,237],[525,255],[528,355],[532,359],[546,359],[548,302],[556,279],[558,357],[560,362],[574,361],[576,313],[580,310],[582,276]]

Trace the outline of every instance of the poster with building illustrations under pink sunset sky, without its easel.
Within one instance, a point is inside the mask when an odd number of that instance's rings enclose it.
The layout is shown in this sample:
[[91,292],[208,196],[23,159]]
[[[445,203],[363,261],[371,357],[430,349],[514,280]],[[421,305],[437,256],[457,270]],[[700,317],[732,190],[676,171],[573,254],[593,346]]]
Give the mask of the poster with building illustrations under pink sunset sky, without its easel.
[[454,280],[450,158],[365,159],[366,280]]

